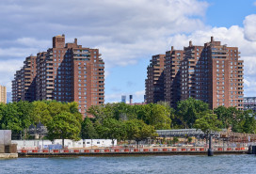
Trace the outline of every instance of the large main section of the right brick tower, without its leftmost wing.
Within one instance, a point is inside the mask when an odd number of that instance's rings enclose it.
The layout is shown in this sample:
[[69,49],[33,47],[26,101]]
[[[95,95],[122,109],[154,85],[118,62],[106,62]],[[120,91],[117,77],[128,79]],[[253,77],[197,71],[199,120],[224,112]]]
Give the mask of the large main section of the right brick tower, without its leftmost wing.
[[212,109],[219,105],[243,109],[243,60],[239,54],[237,47],[221,45],[213,37],[203,46],[189,41],[183,51],[171,49],[165,57],[165,101],[175,106],[192,97],[209,103]]

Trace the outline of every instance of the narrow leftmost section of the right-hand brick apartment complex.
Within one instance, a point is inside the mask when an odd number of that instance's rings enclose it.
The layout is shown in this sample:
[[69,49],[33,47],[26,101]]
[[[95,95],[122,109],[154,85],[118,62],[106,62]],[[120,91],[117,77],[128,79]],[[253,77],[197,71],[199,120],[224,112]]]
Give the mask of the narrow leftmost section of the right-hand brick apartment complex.
[[152,55],[150,66],[147,68],[146,103],[164,101],[164,69],[165,55]]

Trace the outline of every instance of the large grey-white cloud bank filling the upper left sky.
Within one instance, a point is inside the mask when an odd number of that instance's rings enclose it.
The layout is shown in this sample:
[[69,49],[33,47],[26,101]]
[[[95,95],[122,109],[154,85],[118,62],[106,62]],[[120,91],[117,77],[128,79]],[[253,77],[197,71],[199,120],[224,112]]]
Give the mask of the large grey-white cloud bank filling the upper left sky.
[[51,37],[65,34],[67,41],[99,48],[108,76],[113,67],[167,50],[170,35],[205,28],[207,7],[200,0],[0,1],[0,63],[45,51]]

